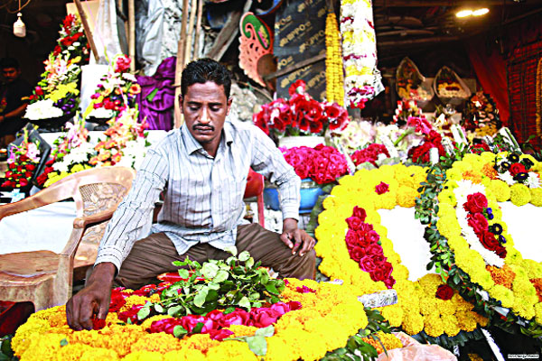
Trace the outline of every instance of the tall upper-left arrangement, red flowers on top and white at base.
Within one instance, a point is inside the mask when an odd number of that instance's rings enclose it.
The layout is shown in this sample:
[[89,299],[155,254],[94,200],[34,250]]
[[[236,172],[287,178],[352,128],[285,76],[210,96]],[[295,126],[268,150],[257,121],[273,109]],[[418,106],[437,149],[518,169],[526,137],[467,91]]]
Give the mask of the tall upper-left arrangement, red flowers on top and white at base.
[[89,45],[77,15],[68,14],[59,33],[24,115],[32,121],[72,115],[78,110],[80,66],[89,61]]

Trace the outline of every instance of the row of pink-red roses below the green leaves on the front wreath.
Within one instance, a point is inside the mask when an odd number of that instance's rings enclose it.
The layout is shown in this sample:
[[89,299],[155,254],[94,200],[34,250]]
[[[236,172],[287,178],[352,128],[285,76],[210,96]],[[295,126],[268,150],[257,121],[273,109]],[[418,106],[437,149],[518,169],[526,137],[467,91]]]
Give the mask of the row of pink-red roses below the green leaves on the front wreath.
[[[200,333],[210,334],[210,338],[222,340],[232,334],[228,328],[231,325],[254,326],[258,329],[272,325],[285,313],[291,310],[300,310],[301,303],[298,301],[277,302],[269,307],[258,307],[250,311],[236,309],[228,314],[220,310],[212,310],[207,315],[187,315],[182,318],[155,320],[149,332],[165,332],[173,335],[175,326],[182,326],[188,333],[201,323],[203,328]],[[124,313],[124,312],[123,312]]]

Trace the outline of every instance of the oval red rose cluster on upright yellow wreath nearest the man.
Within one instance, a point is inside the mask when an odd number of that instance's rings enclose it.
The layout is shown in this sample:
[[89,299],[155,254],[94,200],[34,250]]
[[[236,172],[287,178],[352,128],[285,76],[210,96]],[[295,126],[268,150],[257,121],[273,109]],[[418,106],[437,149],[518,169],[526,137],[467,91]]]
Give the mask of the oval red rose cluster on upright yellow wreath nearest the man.
[[392,288],[396,280],[392,277],[392,265],[384,256],[380,245],[380,236],[372,225],[365,223],[367,213],[365,209],[354,207],[352,216],[346,218],[348,232],[346,234],[346,247],[350,258],[360,264],[360,269],[369,273],[370,279],[384,282],[386,287]]

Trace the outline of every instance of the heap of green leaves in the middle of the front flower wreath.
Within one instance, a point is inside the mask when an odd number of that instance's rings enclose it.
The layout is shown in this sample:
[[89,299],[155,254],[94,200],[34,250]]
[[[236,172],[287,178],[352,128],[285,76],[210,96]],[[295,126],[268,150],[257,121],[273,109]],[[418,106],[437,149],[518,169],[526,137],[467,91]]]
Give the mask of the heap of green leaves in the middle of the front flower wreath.
[[[202,315],[217,309],[229,313],[236,307],[250,310],[264,303],[280,301],[279,295],[285,289],[283,280],[270,279],[267,271],[258,268],[260,263],[255,264],[248,252],[237,255],[231,250],[230,253],[232,256],[226,261],[210,260],[199,264],[187,257],[182,262],[173,262],[176,266],[187,267],[179,270],[179,275],[186,281],[175,282],[165,289],[159,302],[147,302],[137,312],[137,319],[156,314]],[[185,334],[186,330],[177,329],[179,337]]]

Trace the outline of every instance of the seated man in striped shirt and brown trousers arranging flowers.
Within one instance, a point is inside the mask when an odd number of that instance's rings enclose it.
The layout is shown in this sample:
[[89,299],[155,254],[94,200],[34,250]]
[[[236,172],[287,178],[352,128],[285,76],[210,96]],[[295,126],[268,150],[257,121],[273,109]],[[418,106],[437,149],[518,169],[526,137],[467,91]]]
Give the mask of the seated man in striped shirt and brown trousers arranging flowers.
[[[105,319],[113,285],[138,288],[174,271],[189,256],[200,263],[226,259],[236,245],[282,276],[312,278],[314,239],[297,227],[301,180],[275,144],[254,125],[225,121],[231,106],[229,71],[209,59],[182,71],[185,124],[147,152],[129,194],[107,225],[92,274],[67,303],[72,329]],[[281,235],[242,225],[248,168],[281,192]],[[164,206],[150,236],[135,242],[164,190]]]

